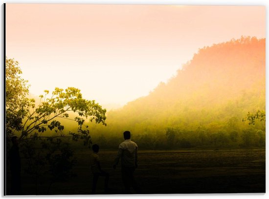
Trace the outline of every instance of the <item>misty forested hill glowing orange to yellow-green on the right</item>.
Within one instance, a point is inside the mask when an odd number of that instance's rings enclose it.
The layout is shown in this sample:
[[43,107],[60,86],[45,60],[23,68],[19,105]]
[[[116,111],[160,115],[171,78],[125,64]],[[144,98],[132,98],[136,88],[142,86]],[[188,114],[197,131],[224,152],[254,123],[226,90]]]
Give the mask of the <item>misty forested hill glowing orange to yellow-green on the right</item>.
[[[108,127],[96,132],[109,137],[128,129],[141,142],[147,135],[156,136],[157,148],[159,139],[169,142],[171,132],[174,141],[168,145],[176,148],[182,140],[192,147],[244,146],[242,133],[250,127],[242,118],[248,111],[265,110],[265,57],[265,39],[242,37],[203,47],[167,84],[160,83],[148,96],[110,111]],[[265,131],[262,124],[253,128]],[[234,143],[231,132],[236,132]],[[225,143],[212,138],[214,133],[222,134]]]

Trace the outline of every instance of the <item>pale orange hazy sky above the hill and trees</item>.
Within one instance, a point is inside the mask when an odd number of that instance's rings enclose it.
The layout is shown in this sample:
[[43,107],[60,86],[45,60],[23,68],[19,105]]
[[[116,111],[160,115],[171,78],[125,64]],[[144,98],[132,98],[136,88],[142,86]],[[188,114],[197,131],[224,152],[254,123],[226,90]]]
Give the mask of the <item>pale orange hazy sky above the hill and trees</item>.
[[265,6],[6,4],[6,55],[30,91],[69,86],[124,105],[167,82],[199,48],[266,36]]

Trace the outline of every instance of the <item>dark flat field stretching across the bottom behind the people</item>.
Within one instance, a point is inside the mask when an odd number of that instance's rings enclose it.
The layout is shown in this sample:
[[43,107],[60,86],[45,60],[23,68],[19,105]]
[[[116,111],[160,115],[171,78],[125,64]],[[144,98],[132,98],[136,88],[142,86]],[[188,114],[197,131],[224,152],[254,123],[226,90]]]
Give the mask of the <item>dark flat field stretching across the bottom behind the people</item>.
[[[38,185],[40,195],[89,195],[92,176],[88,151],[75,153],[76,176],[66,182],[52,184],[48,190],[47,177]],[[110,194],[122,194],[120,165],[112,169],[116,151],[100,151],[103,170],[110,173]],[[135,178],[142,194],[187,193],[265,193],[265,150],[218,151],[139,151],[139,166]],[[7,173],[7,194],[10,186]],[[22,172],[22,191],[35,195],[35,184]],[[103,194],[104,179],[98,180],[97,194]]]

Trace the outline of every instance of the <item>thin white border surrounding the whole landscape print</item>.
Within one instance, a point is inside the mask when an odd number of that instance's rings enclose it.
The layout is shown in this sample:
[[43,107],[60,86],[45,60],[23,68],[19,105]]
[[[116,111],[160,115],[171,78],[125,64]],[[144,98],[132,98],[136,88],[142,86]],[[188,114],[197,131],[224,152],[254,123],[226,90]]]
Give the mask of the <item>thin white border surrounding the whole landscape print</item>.
[[[269,5],[268,0],[1,0],[1,75],[0,75],[0,190],[1,197],[3,197],[3,3],[69,3],[69,4],[179,4],[179,5]],[[266,14],[266,21],[268,22],[268,15]],[[267,31],[266,31],[267,32]],[[266,34],[267,36],[267,34]],[[266,44],[266,46],[268,46]],[[268,53],[266,53],[266,58],[268,58]],[[268,72],[266,72],[267,74]],[[266,75],[268,77],[268,75]],[[268,99],[266,97],[266,99]],[[268,138],[266,139],[268,143]],[[266,153],[268,154],[268,153]],[[268,155],[266,155],[268,157]],[[268,159],[268,158],[267,158]],[[268,169],[268,164],[266,164],[266,169]],[[268,175],[266,175],[268,179]],[[268,182],[268,180],[266,180]],[[268,191],[268,183],[266,183],[266,191]],[[212,198],[226,198],[230,199],[259,199],[265,198],[268,194],[175,194],[175,195],[140,195],[140,196],[128,196],[128,198],[137,198],[137,199],[149,199],[149,198],[180,198],[180,199],[212,199]],[[11,197],[11,196],[10,196]],[[11,198],[28,198],[29,196],[22,197],[11,197]],[[110,196],[39,196],[38,198],[126,198],[126,196],[120,195],[110,195]],[[36,198],[36,196],[30,196],[30,198]]]

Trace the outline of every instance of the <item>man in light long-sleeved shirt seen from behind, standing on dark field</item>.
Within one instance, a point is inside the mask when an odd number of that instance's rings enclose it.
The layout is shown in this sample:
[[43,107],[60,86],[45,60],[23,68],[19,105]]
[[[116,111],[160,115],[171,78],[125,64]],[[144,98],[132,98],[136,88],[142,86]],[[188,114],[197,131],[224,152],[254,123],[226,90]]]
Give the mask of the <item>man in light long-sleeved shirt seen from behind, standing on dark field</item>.
[[137,144],[131,141],[131,132],[126,131],[123,133],[125,139],[119,145],[118,154],[114,160],[113,169],[116,169],[116,165],[121,159],[121,175],[125,187],[125,192],[127,194],[131,193],[131,186],[133,186],[134,191],[139,193],[138,186],[134,179],[134,170],[137,168]]

